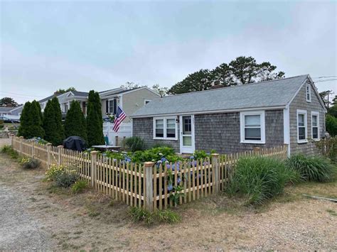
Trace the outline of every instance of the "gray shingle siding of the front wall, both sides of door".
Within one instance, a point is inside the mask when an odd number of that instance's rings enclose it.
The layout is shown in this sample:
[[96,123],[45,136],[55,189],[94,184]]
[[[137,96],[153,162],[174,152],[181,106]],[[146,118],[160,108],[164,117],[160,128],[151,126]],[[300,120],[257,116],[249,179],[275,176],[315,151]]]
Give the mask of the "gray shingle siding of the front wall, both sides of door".
[[[284,143],[283,111],[265,111],[266,144],[240,143],[240,113],[195,115],[196,150],[216,150],[218,153],[235,153],[252,150],[254,147],[280,146]],[[178,140],[154,140],[153,118],[134,118],[133,136],[144,139],[147,146],[156,143],[169,143],[176,152],[180,152],[179,128]]]

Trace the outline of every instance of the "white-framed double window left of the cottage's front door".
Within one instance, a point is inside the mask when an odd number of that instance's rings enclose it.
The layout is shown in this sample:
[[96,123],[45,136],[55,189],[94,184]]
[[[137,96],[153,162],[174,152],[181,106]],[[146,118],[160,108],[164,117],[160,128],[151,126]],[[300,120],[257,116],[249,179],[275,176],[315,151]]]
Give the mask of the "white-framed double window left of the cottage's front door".
[[177,139],[176,117],[154,118],[154,139]]

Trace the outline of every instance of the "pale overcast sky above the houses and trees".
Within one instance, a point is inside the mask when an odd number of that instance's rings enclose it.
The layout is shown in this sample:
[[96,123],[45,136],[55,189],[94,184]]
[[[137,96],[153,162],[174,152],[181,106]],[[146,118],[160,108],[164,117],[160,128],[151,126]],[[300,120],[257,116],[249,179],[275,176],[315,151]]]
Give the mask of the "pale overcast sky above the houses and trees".
[[[171,87],[242,55],[336,77],[336,14],[337,1],[0,0],[0,97]],[[337,80],[316,87],[337,94]]]

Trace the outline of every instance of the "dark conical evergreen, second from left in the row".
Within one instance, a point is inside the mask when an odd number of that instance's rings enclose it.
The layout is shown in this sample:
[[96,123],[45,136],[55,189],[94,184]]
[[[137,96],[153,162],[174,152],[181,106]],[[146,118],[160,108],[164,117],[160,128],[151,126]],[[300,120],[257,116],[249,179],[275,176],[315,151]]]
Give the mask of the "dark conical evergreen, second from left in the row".
[[43,138],[45,132],[42,127],[42,112],[41,106],[36,100],[31,103],[28,114],[28,133],[27,138],[41,137]]

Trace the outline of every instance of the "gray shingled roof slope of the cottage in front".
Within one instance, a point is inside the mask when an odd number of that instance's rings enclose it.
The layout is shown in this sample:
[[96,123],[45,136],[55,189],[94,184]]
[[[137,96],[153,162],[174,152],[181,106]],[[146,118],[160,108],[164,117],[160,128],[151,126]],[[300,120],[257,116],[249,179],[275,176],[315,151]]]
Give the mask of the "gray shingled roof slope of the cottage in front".
[[153,99],[132,116],[285,106],[309,75]]

